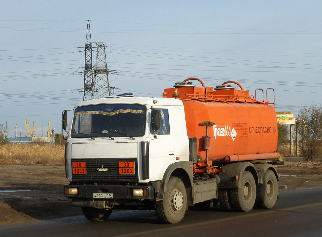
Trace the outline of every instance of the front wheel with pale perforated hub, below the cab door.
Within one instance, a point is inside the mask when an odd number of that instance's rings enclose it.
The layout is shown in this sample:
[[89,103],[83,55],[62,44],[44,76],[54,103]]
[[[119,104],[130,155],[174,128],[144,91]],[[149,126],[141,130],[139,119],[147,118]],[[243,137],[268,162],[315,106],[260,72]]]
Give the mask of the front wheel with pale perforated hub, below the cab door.
[[187,206],[185,185],[177,177],[170,177],[163,200],[155,202],[156,216],[166,224],[179,223]]

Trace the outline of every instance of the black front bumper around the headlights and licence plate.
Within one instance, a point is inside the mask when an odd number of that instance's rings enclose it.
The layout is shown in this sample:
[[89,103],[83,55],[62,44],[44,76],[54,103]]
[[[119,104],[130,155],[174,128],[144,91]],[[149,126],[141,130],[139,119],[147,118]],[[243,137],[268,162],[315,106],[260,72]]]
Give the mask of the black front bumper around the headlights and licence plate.
[[[149,199],[155,200],[155,188],[153,186],[138,186],[138,185],[65,185],[66,188],[77,188],[77,195],[69,195],[65,193],[68,198],[86,198],[92,199],[94,193],[112,193],[111,199]],[[145,196],[133,196],[133,189],[145,189]]]

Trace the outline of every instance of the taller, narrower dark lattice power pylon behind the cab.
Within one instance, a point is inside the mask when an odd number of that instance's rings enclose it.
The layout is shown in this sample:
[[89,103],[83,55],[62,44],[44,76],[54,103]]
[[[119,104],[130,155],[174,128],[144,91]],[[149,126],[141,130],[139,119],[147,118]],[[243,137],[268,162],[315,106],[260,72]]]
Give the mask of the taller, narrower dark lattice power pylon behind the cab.
[[92,43],[90,38],[90,21],[87,20],[83,101],[90,99],[90,96],[92,95],[92,90],[93,90]]

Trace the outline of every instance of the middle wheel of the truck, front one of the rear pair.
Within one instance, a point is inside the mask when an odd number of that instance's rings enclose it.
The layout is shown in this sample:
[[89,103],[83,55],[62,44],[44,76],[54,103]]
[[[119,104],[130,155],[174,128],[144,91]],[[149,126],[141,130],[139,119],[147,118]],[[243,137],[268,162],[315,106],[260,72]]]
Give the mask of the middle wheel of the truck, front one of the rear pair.
[[241,188],[230,191],[232,206],[236,211],[249,212],[256,200],[256,183],[249,171],[244,171],[241,179]]

